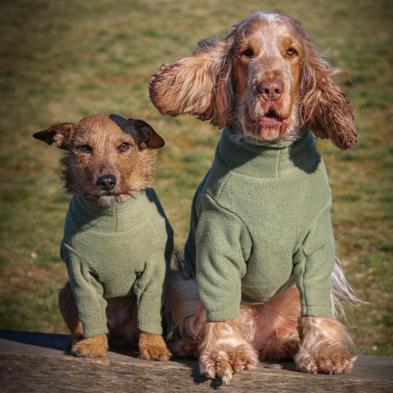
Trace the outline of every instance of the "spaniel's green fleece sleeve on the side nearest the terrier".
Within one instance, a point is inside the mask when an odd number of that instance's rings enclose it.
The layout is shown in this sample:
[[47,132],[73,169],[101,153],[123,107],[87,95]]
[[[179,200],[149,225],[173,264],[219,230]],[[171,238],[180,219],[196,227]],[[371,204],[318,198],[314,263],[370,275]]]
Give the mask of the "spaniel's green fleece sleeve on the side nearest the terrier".
[[195,233],[196,283],[208,321],[226,321],[240,315],[241,279],[251,239],[243,222],[204,193]]

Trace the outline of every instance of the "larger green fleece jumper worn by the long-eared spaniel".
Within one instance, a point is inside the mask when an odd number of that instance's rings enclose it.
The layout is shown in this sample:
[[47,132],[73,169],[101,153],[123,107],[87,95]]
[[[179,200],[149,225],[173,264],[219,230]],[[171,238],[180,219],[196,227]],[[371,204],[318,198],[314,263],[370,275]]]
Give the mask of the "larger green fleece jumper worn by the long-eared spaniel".
[[301,315],[332,317],[331,192],[312,132],[289,146],[231,140],[224,129],[196,190],[185,257],[208,321],[240,303],[278,298],[296,283]]

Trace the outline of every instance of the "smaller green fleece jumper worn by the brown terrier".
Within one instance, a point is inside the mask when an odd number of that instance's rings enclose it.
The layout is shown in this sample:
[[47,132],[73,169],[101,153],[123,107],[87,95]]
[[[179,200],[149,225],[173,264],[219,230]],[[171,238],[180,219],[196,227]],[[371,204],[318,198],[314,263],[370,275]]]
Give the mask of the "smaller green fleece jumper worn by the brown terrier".
[[162,334],[162,303],[173,230],[153,189],[116,206],[73,196],[60,256],[70,277],[83,336],[108,333],[108,298],[136,295],[138,328]]

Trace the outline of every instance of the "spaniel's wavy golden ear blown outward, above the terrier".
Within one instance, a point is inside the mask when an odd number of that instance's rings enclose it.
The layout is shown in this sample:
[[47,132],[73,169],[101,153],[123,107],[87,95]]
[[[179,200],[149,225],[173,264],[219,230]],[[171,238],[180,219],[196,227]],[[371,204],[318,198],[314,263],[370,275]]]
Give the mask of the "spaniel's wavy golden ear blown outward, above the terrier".
[[[236,26],[236,25],[235,25]],[[233,104],[231,81],[235,26],[225,39],[215,36],[198,43],[193,55],[162,66],[149,79],[153,105],[162,115],[189,113],[224,127],[230,122]]]

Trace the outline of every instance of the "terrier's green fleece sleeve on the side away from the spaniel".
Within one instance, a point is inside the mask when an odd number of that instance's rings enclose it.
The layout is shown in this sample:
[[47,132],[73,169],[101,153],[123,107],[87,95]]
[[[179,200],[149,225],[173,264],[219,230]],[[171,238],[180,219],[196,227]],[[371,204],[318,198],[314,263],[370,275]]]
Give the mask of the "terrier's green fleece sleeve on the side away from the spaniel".
[[91,276],[83,257],[67,243],[61,244],[60,256],[67,266],[84,338],[107,334],[107,301],[103,298],[103,286]]

